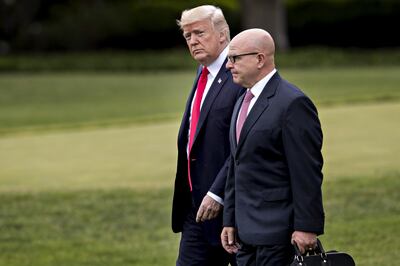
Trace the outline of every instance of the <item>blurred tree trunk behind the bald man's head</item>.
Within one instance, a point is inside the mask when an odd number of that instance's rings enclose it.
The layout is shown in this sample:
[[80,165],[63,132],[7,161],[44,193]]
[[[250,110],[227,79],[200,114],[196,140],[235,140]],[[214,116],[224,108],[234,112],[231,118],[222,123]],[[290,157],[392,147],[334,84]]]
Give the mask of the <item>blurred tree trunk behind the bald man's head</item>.
[[277,49],[287,51],[286,11],[283,0],[240,0],[242,27],[262,28],[275,40]]

